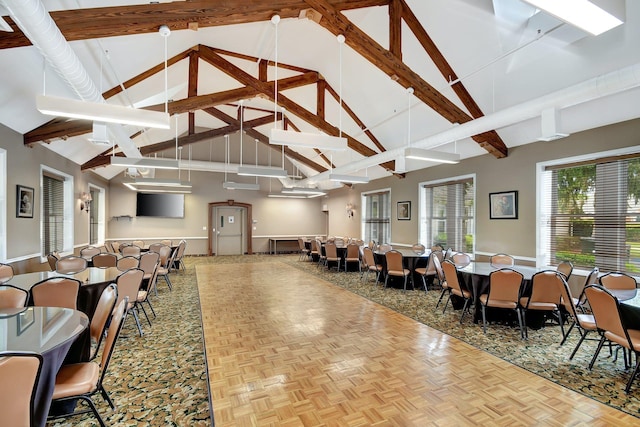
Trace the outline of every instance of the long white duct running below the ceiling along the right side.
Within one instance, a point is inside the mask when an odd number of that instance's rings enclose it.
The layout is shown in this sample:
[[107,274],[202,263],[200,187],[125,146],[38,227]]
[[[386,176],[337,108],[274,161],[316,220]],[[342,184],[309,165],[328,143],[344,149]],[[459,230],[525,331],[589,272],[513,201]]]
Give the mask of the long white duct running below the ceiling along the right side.
[[[500,129],[502,127],[532,119],[539,116],[542,111],[547,108],[568,108],[593,101],[598,98],[603,98],[608,95],[614,95],[625,90],[630,90],[638,86],[640,86],[640,64],[630,65],[620,70],[594,77],[566,89],[561,89],[549,95],[523,102],[522,104],[454,126],[444,132],[440,132],[414,142],[411,145],[413,147],[424,149],[438,147],[449,142],[469,138],[483,132]],[[331,173],[349,174],[371,166],[377,166],[381,163],[396,160],[404,155],[404,149],[405,147],[396,148],[344,166],[339,166],[333,169]],[[317,184],[328,179],[329,172],[322,172],[299,181],[296,184],[304,187]]]

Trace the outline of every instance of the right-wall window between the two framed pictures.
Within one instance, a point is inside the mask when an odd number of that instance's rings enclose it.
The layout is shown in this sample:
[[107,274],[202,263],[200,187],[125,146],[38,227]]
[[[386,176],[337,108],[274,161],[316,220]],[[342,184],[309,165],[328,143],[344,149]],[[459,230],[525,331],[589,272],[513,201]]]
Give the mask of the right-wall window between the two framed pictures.
[[420,242],[474,252],[474,176],[420,184]]

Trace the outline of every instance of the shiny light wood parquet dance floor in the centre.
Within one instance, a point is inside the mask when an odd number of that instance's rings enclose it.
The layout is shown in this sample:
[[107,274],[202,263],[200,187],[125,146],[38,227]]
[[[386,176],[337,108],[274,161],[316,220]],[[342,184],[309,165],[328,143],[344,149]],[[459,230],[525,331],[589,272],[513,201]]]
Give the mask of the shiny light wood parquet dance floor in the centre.
[[277,258],[197,280],[217,427],[638,424]]

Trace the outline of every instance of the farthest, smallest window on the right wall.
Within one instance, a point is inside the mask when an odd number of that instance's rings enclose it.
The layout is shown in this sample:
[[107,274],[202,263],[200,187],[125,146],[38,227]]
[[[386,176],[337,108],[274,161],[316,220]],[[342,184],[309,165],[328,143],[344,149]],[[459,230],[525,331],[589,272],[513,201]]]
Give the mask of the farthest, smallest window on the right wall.
[[391,192],[389,190],[362,193],[362,239],[378,244],[391,239]]

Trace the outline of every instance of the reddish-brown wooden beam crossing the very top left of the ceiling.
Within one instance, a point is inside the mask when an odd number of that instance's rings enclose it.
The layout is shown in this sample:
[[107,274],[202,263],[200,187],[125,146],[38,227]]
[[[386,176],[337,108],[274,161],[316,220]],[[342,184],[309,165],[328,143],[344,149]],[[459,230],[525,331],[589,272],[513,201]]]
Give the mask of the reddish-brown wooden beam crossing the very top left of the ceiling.
[[[384,6],[389,0],[329,0],[338,10]],[[302,0],[177,1],[133,6],[95,7],[49,12],[68,41],[157,33],[161,25],[171,31],[264,22],[276,13],[298,18],[307,4]],[[0,49],[30,46],[31,42],[10,17],[13,32],[0,32]]]

